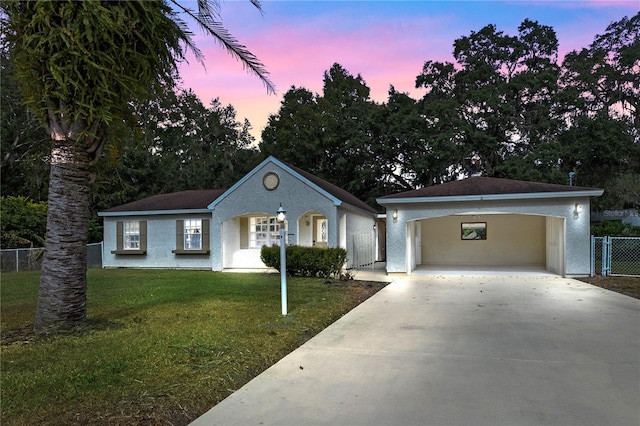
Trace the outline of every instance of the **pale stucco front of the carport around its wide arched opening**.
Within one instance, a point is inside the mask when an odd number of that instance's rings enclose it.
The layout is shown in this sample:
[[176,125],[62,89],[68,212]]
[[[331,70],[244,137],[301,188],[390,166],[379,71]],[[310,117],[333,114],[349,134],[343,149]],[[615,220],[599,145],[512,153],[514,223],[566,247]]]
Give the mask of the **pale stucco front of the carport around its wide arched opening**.
[[[582,212],[575,215],[575,205],[582,206]],[[588,197],[567,197],[552,199],[520,199],[492,201],[461,201],[449,203],[387,203],[387,272],[407,271],[408,222],[458,214],[488,215],[494,213],[514,213],[553,216],[565,220],[565,275],[584,276],[590,269]],[[398,218],[393,221],[393,211]]]

